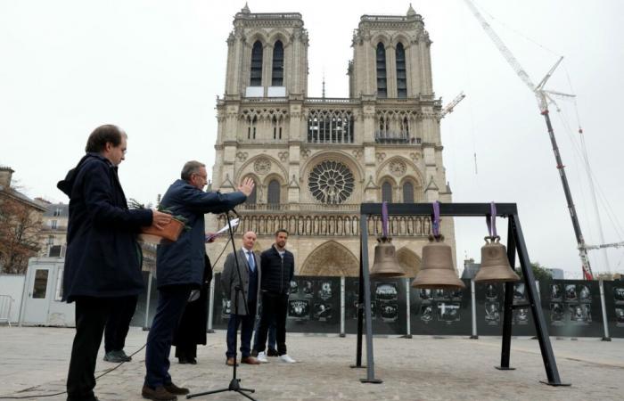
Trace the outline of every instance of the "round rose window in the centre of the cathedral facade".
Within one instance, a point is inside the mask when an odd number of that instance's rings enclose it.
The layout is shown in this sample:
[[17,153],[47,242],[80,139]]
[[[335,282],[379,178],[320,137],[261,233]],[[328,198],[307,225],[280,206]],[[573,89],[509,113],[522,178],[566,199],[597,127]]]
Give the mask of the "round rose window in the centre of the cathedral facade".
[[354,187],[353,173],[339,161],[325,160],[310,171],[308,187],[312,196],[323,203],[346,201]]

